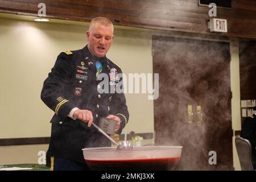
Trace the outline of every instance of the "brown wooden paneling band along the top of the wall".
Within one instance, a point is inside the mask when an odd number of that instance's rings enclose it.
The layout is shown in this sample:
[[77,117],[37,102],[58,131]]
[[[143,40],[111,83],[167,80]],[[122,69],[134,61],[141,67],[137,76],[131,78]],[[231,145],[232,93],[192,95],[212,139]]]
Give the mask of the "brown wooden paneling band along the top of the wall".
[[[0,11],[15,14],[37,15],[39,0],[0,1]],[[206,6],[197,0],[45,0],[47,17],[88,22],[95,16],[106,16],[114,24],[235,36],[256,39],[256,5],[251,0],[236,0],[232,9],[217,9],[217,18],[228,19],[228,33],[212,33]]]

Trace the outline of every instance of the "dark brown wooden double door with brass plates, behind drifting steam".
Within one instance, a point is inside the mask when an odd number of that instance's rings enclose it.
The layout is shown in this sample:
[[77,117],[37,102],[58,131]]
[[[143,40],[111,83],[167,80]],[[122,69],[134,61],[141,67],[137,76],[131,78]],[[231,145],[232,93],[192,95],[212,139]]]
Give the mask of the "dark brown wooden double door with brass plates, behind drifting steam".
[[233,169],[229,43],[153,36],[153,61],[156,144],[184,147],[177,170]]

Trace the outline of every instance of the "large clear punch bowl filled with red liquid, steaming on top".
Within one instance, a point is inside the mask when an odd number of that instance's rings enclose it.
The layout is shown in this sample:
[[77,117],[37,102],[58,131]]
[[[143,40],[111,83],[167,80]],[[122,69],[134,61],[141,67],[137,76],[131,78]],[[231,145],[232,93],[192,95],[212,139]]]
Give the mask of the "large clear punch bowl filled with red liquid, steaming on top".
[[141,146],[133,150],[116,147],[83,148],[92,170],[173,170],[179,163],[181,146]]

